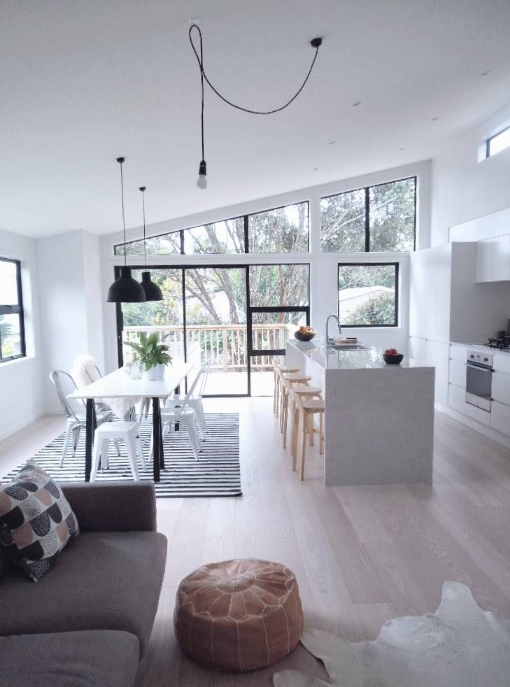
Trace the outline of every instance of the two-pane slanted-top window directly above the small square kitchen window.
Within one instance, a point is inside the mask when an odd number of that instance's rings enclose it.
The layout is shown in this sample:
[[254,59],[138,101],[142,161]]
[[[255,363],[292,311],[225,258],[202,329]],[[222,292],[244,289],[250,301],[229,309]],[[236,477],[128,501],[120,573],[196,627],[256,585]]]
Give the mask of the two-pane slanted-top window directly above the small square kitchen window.
[[323,253],[411,251],[416,239],[416,177],[320,199]]

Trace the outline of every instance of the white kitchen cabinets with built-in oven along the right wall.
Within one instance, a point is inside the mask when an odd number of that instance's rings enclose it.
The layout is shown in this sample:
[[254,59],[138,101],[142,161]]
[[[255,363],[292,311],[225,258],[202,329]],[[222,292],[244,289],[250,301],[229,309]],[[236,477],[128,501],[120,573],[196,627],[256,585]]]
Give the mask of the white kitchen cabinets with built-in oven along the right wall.
[[510,209],[411,256],[409,357],[436,370],[437,409],[510,447]]

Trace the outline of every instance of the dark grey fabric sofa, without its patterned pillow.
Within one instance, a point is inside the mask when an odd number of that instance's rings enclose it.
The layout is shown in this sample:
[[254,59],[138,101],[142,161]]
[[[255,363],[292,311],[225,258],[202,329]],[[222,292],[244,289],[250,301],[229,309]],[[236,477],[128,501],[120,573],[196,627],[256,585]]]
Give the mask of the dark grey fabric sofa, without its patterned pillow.
[[80,536],[37,583],[0,549],[0,686],[132,686],[167,560],[153,483],[62,485]]

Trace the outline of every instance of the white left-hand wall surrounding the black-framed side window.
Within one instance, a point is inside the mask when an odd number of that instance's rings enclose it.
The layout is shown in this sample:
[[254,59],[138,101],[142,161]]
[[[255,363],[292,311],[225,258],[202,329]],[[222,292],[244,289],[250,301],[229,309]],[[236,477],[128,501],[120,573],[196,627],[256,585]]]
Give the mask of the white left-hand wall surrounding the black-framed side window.
[[0,229],[0,256],[21,261],[27,357],[0,364],[0,440],[44,414],[36,241]]

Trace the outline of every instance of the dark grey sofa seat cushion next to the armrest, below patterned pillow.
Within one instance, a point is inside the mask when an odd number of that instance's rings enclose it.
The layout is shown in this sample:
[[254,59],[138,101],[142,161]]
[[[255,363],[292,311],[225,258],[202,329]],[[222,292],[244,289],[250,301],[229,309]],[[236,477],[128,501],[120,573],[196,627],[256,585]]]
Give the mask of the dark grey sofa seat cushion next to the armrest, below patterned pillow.
[[0,635],[125,630],[143,654],[166,558],[167,539],[158,532],[83,532],[37,584],[15,568],[3,575]]

